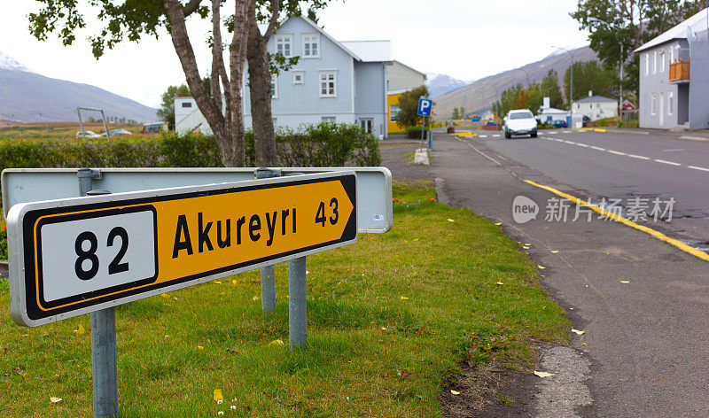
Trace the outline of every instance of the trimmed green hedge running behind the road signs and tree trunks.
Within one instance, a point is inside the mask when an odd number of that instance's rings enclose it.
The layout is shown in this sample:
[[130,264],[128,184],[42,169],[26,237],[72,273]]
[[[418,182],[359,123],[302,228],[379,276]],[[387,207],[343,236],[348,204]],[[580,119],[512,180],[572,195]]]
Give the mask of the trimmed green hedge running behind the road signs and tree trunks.
[[[247,131],[246,166],[253,166],[253,132]],[[276,135],[280,166],[378,166],[378,140],[355,125],[326,122]],[[223,166],[214,136],[165,134],[134,141],[0,139],[0,170],[23,167]]]

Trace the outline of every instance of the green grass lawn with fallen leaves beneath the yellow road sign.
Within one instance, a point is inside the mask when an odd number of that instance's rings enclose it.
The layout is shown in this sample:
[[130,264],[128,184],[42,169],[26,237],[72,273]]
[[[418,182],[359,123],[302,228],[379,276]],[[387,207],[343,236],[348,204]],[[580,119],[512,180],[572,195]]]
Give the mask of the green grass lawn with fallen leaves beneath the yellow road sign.
[[[119,306],[121,416],[440,417],[463,362],[526,369],[529,341],[565,344],[517,242],[430,183],[394,196],[392,231],[308,257],[307,350],[288,348],[283,265],[276,314],[257,271]],[[0,416],[92,416],[89,316],[27,329],[9,304],[0,281]]]

